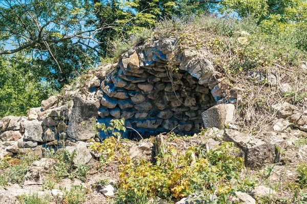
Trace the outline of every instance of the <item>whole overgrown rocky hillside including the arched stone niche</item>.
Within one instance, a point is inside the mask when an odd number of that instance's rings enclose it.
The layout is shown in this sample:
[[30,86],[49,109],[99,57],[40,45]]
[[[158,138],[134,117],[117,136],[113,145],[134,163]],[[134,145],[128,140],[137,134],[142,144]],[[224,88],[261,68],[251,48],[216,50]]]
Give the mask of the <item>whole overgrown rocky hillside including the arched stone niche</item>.
[[0,200],[307,202],[307,65],[289,39],[202,16],[114,45],[112,63],[1,119]]

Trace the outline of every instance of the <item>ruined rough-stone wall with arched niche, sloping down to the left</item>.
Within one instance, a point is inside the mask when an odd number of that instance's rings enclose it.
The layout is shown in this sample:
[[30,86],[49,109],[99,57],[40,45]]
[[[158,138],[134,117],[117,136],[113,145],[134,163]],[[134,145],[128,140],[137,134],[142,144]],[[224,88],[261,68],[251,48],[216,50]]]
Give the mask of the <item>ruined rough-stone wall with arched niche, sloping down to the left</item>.
[[136,46],[118,63],[90,70],[77,89],[67,86],[62,96],[42,101],[27,117],[2,118],[2,155],[38,144],[61,146],[63,138],[104,138],[96,124],[108,125],[115,118],[125,118],[127,138],[138,137],[137,132],[143,137],[199,132],[202,113],[216,104],[234,104],[237,94],[214,70],[206,50],[181,50],[176,41],[165,38]]

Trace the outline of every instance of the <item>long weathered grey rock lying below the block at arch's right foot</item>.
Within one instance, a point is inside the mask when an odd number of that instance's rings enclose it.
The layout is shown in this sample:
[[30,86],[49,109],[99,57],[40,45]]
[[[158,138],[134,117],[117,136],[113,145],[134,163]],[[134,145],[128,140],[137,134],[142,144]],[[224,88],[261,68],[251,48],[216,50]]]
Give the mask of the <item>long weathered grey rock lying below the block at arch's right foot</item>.
[[238,131],[225,129],[224,141],[233,142],[242,149],[246,167],[255,168],[261,167],[265,162],[273,163],[277,156],[275,145]]

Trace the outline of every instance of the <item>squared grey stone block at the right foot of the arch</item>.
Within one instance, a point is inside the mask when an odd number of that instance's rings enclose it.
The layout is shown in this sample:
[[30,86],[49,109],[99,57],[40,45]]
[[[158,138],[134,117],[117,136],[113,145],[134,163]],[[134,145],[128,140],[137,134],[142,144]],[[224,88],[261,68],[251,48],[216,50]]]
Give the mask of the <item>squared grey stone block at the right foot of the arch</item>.
[[204,127],[223,129],[227,122],[231,122],[234,114],[234,105],[216,105],[202,113]]

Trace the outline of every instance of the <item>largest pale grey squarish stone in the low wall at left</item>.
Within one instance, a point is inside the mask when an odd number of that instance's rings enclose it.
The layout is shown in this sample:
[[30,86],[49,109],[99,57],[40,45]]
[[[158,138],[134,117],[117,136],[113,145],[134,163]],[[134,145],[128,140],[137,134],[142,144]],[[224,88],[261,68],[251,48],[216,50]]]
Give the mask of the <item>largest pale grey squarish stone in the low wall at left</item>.
[[36,142],[43,142],[41,122],[37,120],[31,120],[26,124],[25,139]]

